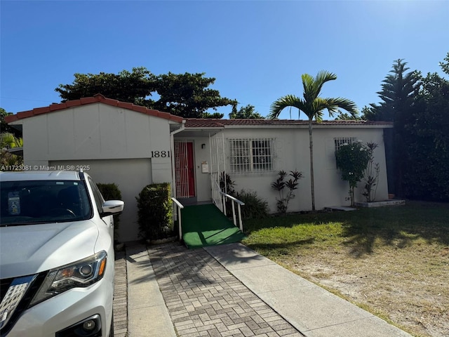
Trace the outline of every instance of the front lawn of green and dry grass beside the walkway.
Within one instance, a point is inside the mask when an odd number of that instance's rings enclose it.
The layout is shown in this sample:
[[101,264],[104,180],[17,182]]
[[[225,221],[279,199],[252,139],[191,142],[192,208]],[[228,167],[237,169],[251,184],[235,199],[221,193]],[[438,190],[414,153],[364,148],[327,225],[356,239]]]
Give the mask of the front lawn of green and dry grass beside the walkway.
[[244,244],[415,336],[449,336],[449,204],[247,220]]

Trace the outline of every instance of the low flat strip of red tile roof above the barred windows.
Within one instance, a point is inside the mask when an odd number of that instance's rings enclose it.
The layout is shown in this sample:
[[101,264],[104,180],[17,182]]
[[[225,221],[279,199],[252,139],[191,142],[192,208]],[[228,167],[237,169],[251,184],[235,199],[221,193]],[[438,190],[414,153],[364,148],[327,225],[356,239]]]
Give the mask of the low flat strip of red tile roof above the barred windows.
[[[314,122],[316,124],[316,122]],[[392,126],[389,121],[322,121],[320,125]],[[308,125],[296,119],[186,119],[185,128],[225,128],[226,126],[295,126]]]

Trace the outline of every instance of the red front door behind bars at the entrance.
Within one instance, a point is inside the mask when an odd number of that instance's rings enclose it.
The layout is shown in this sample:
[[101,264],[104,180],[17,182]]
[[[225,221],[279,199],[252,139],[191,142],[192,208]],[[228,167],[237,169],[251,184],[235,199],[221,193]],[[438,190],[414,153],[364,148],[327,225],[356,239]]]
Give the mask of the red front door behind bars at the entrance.
[[176,197],[195,197],[194,143],[175,141]]

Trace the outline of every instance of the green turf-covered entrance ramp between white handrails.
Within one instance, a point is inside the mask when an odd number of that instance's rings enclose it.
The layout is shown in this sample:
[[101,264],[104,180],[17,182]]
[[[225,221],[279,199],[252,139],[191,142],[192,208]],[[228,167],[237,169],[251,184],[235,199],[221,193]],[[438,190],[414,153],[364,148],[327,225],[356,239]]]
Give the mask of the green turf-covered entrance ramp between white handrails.
[[213,204],[182,209],[182,239],[188,248],[240,242],[245,235]]

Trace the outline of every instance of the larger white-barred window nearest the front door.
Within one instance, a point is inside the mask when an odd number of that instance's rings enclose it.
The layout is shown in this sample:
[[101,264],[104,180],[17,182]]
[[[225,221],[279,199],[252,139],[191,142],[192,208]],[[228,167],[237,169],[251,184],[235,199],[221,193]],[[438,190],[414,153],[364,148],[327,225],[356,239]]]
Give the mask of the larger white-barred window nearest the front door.
[[229,139],[231,173],[274,170],[273,138]]

